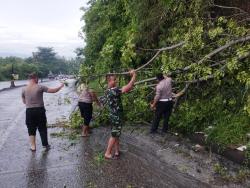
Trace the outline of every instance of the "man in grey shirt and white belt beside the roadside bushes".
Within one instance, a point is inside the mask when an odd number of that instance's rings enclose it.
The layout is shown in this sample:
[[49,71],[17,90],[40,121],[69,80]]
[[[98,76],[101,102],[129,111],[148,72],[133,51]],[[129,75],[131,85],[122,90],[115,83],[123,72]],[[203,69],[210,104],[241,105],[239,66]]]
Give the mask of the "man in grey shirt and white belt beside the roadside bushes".
[[170,77],[164,78],[162,73],[157,74],[156,78],[158,81],[156,94],[154,101],[150,104],[151,108],[155,110],[155,117],[150,133],[156,133],[162,116],[162,132],[166,133],[168,131],[168,120],[173,108],[172,79]]

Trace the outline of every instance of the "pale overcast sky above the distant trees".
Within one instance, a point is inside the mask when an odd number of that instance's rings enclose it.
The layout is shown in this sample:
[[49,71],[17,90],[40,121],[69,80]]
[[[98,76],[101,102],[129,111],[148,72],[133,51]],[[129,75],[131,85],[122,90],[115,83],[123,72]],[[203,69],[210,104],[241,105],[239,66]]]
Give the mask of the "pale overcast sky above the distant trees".
[[75,57],[88,0],[0,0],[0,56],[29,57],[38,46]]

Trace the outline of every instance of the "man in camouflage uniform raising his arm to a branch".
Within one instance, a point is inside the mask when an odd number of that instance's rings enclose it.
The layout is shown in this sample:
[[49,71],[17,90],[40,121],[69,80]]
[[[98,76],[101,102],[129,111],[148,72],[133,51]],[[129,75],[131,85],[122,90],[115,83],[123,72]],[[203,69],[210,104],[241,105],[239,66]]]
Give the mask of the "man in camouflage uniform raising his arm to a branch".
[[135,82],[135,71],[130,71],[131,80],[121,89],[116,86],[116,76],[107,75],[108,89],[105,91],[105,103],[109,108],[109,118],[111,123],[111,137],[108,141],[108,147],[105,152],[105,158],[112,158],[112,149],[115,149],[115,157],[119,157],[119,137],[122,129],[123,108],[121,94],[129,92]]

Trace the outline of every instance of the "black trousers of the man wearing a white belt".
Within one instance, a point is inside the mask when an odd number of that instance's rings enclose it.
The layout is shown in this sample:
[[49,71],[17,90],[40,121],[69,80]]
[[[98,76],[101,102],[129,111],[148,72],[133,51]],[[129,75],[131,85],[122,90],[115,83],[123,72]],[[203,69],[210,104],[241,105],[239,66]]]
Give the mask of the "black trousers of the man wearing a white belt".
[[173,108],[173,101],[158,101],[156,104],[155,116],[151,127],[151,132],[156,132],[163,116],[163,132],[168,131],[168,121]]

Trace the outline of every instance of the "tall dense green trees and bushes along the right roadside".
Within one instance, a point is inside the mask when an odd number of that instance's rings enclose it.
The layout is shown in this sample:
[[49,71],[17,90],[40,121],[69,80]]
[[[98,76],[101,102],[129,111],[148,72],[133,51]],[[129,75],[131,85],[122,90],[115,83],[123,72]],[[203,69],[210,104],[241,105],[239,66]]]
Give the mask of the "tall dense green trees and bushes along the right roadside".
[[[207,142],[222,148],[247,143],[248,0],[91,0],[82,10],[82,78],[93,78],[93,72],[122,72],[152,60],[138,72],[137,79],[144,81],[123,97],[127,121],[152,120],[155,73],[174,73],[174,88],[185,95],[175,103],[172,130],[205,132]],[[166,48],[175,44],[181,45]],[[124,79],[121,76],[120,83]]]

